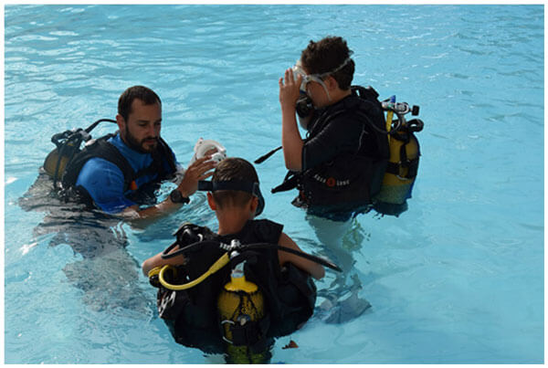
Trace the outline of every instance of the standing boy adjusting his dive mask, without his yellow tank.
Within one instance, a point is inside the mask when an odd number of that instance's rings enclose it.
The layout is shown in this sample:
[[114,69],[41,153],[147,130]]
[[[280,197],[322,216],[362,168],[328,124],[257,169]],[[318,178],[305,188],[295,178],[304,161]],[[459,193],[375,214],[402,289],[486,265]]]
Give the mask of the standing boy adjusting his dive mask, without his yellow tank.
[[369,208],[388,158],[381,104],[351,88],[352,54],[342,37],[311,41],[279,79],[284,160],[300,191],[293,204],[339,221]]

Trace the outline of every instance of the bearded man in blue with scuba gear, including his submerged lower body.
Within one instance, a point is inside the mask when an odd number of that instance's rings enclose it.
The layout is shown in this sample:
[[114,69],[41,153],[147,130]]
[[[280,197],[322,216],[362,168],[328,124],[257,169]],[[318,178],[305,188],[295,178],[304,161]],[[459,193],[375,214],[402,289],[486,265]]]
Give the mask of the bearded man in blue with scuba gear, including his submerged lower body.
[[[91,139],[91,131],[103,121],[116,122],[119,131]],[[53,234],[48,237],[50,247],[68,245],[81,256],[63,271],[93,310],[150,312],[140,285],[140,265],[126,249],[129,241],[120,216],[132,226],[145,226],[181,208],[216,164],[208,160],[215,151],[212,145],[220,145],[196,144],[183,180],[156,204],[154,191],[161,182],[181,175],[174,152],[160,136],[161,122],[162,102],[152,89],[126,89],[116,121],[101,119],[87,129],[52,137],[56,148],[47,155],[37,182],[19,199],[26,211],[47,212],[34,230],[38,239]],[[111,270],[111,277],[105,277],[104,269]]]

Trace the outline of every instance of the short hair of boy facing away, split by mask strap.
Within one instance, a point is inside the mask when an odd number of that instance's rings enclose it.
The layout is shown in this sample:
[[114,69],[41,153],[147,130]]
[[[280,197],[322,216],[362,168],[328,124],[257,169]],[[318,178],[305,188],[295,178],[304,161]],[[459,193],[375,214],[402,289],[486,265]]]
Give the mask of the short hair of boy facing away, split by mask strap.
[[[217,165],[211,181],[258,183],[258,175],[255,167],[248,161],[237,157],[228,157]],[[235,190],[218,190],[212,195],[219,208],[227,205],[244,207],[253,196],[250,193]]]

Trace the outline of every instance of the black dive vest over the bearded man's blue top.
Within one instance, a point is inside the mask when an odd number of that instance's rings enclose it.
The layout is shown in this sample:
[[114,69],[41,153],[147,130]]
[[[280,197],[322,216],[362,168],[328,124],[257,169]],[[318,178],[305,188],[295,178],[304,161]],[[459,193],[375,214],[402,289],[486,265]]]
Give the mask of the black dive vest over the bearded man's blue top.
[[132,187],[132,182],[143,175],[157,174],[152,183],[142,185],[139,190],[128,195],[128,198],[139,205],[152,205],[155,202],[153,192],[157,189],[158,184],[166,179],[173,177],[176,166],[174,155],[166,142],[159,138],[156,150],[151,155],[153,162],[145,169],[135,172],[132,165],[121,154],[121,152],[108,140],[115,134],[107,134],[98,138],[94,142],[87,144],[74,158],[68,163],[65,173],[62,177],[62,187],[65,194],[78,198],[79,202],[92,204],[91,196],[88,191],[81,185],[76,186],[79,173],[85,163],[91,158],[101,158],[114,163],[123,173],[124,184],[123,192],[126,193]]

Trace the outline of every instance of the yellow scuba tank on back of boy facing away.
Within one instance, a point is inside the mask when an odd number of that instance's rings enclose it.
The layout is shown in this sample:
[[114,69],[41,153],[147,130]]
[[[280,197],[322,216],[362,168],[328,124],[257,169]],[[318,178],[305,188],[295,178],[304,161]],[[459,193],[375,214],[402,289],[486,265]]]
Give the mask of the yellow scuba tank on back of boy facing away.
[[263,295],[258,286],[246,279],[244,263],[232,270],[230,281],[221,290],[217,309],[227,342],[227,363],[268,363],[267,352],[252,352],[247,345],[233,342],[233,328],[259,321],[265,316]]

